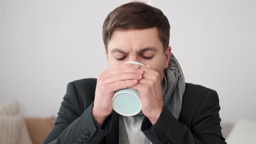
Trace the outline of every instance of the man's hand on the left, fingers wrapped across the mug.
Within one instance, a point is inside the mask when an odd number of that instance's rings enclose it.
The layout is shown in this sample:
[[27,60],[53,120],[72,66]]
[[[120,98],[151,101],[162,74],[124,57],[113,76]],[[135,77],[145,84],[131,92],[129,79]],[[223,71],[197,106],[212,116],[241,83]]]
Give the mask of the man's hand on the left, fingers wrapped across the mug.
[[123,63],[105,69],[98,75],[92,116],[100,126],[113,110],[112,97],[115,91],[137,85],[142,74],[138,65]]

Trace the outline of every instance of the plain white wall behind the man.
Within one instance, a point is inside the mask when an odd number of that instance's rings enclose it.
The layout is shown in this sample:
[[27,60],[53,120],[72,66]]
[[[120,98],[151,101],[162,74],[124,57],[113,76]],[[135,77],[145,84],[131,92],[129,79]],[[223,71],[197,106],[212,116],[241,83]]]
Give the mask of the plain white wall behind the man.
[[[102,24],[129,0],[0,0],[0,104],[56,115],[66,85],[108,67]],[[256,1],[152,0],[171,23],[186,82],[219,94],[223,121],[256,119]]]

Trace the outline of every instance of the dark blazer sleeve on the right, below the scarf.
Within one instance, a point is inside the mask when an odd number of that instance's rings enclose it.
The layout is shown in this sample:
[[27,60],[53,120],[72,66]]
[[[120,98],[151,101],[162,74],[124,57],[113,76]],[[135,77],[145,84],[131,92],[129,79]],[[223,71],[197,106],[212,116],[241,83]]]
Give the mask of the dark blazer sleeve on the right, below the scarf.
[[219,111],[217,92],[209,90],[194,115],[191,128],[179,122],[164,105],[154,125],[144,118],[141,131],[153,144],[226,144]]

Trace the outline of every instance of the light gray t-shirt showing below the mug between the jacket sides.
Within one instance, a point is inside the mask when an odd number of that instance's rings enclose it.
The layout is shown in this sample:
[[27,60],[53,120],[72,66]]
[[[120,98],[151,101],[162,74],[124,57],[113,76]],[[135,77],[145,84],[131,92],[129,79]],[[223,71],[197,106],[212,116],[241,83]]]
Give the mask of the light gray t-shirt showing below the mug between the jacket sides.
[[119,144],[141,144],[144,134],[141,132],[141,123],[144,115],[119,115]]

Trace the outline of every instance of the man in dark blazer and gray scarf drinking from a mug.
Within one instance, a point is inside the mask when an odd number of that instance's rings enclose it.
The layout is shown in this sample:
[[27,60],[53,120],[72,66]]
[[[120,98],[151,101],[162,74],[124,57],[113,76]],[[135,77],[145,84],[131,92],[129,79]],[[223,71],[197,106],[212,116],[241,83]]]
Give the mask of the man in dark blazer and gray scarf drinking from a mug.
[[[185,83],[169,37],[167,17],[155,7],[131,2],[109,13],[103,24],[109,68],[68,84],[43,144],[226,144],[217,92]],[[139,92],[138,115],[113,111],[112,96],[123,88]]]

